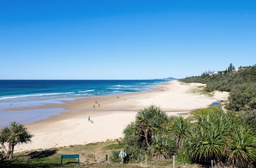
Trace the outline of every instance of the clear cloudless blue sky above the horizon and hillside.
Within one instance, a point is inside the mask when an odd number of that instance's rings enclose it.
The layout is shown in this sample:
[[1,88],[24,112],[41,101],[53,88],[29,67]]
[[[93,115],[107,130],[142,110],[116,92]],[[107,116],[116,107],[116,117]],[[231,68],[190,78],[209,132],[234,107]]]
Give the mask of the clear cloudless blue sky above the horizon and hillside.
[[256,64],[256,1],[0,0],[0,79],[183,78]]

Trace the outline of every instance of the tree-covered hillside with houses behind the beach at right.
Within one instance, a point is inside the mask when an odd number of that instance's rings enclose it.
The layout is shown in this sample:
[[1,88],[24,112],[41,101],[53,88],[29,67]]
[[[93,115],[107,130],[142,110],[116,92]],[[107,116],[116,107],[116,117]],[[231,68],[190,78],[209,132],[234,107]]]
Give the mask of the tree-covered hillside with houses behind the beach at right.
[[236,71],[234,71],[234,66],[230,65],[225,71],[214,75],[203,73],[200,76],[186,77],[180,81],[205,83],[207,92],[230,92],[226,104],[227,110],[256,112],[256,65],[239,67]]

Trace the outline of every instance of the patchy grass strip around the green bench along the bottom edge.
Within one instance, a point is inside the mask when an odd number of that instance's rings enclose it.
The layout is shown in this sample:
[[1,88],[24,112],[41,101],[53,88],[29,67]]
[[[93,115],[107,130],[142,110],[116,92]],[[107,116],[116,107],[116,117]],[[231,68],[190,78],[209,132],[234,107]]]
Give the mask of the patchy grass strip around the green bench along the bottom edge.
[[[115,148],[116,147],[116,148]],[[109,150],[108,148],[111,148]],[[113,162],[109,160],[105,161],[105,155],[108,154],[109,159],[113,157],[112,151],[116,151],[116,154],[120,152],[121,143],[119,140],[113,140],[108,142],[95,142],[88,145],[72,145],[62,148],[50,148],[48,150],[34,150],[23,153],[14,153],[12,160],[0,161],[0,167],[12,168],[36,168],[36,167],[97,167],[97,168],[108,168],[108,167],[129,167],[138,168],[145,167],[145,162],[129,162],[128,164],[119,164],[119,160]],[[93,153],[97,154],[99,163],[93,161]],[[60,164],[62,154],[78,153],[80,156],[80,162],[84,164],[77,164],[75,159],[64,159],[63,164]],[[148,167],[170,167],[173,164],[173,160],[165,161],[148,161]],[[187,168],[199,167],[196,164],[185,165],[182,163],[176,163],[177,167],[186,166]]]

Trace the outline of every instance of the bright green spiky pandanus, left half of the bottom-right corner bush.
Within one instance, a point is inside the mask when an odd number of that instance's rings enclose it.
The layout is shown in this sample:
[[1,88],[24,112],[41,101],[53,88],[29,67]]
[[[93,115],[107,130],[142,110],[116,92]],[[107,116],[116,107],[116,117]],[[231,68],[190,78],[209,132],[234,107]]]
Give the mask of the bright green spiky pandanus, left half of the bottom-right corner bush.
[[226,142],[230,135],[227,115],[200,115],[198,123],[189,134],[189,154],[195,160],[221,162],[225,156]]

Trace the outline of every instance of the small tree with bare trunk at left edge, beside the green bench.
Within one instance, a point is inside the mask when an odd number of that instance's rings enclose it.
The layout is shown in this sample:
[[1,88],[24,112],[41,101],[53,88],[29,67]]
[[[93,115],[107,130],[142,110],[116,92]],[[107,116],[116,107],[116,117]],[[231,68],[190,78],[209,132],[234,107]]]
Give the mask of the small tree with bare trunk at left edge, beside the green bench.
[[[15,121],[10,123],[10,126],[1,129],[0,144],[6,152],[5,159],[12,159],[15,145],[31,142],[31,137],[33,135],[22,124]],[[7,147],[5,144],[7,144]]]

